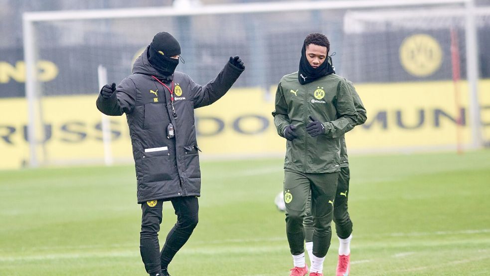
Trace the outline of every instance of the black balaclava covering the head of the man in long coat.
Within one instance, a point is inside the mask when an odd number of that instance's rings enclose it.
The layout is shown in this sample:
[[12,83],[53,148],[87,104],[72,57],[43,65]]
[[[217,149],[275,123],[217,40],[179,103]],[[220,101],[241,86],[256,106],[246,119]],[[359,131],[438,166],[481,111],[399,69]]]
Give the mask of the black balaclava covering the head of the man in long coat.
[[152,43],[148,48],[148,61],[164,76],[170,76],[175,71],[178,58],[170,56],[180,54],[180,44],[177,39],[168,32],[159,32],[153,37]]

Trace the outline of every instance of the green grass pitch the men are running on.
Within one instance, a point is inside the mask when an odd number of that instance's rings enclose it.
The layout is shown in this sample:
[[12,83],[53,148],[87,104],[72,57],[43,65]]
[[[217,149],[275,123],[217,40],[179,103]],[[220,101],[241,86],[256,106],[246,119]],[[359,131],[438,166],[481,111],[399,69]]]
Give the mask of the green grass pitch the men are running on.
[[[170,274],[288,276],[283,160],[201,165],[199,225]],[[351,276],[490,275],[489,150],[353,156],[350,169]],[[135,182],[133,166],[0,172],[0,276],[145,276]],[[162,242],[174,222],[164,204]],[[333,234],[326,276],[337,246]]]

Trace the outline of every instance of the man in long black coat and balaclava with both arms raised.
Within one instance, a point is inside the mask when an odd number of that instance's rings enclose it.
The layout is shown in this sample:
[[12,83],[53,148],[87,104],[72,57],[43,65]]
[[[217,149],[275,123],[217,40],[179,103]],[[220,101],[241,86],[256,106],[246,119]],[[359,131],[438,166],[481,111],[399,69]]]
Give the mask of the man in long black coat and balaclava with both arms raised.
[[[136,59],[133,74],[117,88],[104,85],[97,98],[102,113],[126,113],[143,213],[140,251],[151,276],[168,275],[168,264],[197,225],[201,172],[194,109],[221,98],[245,69],[240,57],[230,57],[216,78],[201,86],[175,71],[179,55],[178,41],[157,33]],[[160,252],[164,201],[171,201],[177,222]]]

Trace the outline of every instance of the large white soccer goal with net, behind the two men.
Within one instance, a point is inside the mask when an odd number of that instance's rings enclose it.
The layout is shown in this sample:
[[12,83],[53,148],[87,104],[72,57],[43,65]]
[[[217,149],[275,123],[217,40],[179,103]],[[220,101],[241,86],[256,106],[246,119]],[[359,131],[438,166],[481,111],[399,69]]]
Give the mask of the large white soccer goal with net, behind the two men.
[[[402,110],[398,114],[394,110],[393,119],[389,118],[391,111],[386,111],[388,115],[383,113],[384,107],[370,99],[377,94],[368,92],[369,85],[409,82],[430,90],[433,87],[430,82],[448,80],[453,89],[453,79],[455,83],[459,81],[453,77],[453,68],[458,66],[468,87],[465,91],[469,108],[465,112],[471,114],[471,119],[466,123],[472,129],[471,135],[463,135],[461,143],[480,147],[476,33],[477,22],[485,21],[488,14],[475,10],[473,0],[288,1],[27,12],[23,15],[23,38],[28,164],[37,167],[131,160],[124,116],[102,118],[95,108],[95,98],[101,86],[101,72],[108,83],[130,75],[133,61],[159,31],[170,32],[179,40],[186,63],[179,64],[177,69],[198,83],[205,84],[214,78],[230,55],[239,54],[246,61],[247,69],[234,85],[233,93],[240,96],[236,100],[227,96],[214,113],[206,109],[199,113],[200,122],[211,122],[215,127],[208,131],[201,127],[204,123],[199,126],[196,123],[198,140],[209,145],[208,154],[246,155],[243,149],[239,151],[231,145],[234,140],[252,144],[245,147],[248,151],[282,153],[284,145],[277,146],[276,138],[270,138],[277,136],[270,117],[273,87],[283,75],[297,70],[301,50],[298,45],[308,33],[316,31],[330,38],[337,73],[364,87],[367,92],[361,95],[363,100],[373,102],[373,111],[368,113],[373,120],[353,133],[352,148],[362,151],[437,147],[437,141],[422,146],[409,141],[388,147],[379,144],[382,139],[377,135],[386,137],[385,124],[386,129],[393,129],[390,141],[417,140],[417,135],[423,133],[415,131],[420,116],[410,122],[400,117],[409,116],[412,111]],[[457,34],[453,41],[451,30]],[[458,42],[454,41],[456,38]],[[404,41],[405,46],[401,46]],[[451,45],[457,45],[460,65],[442,57],[451,50]],[[417,52],[420,49],[422,52]],[[56,67],[56,72],[52,72],[55,76],[49,80],[38,77],[37,65],[46,60]],[[99,66],[107,68],[106,72]],[[454,91],[450,92],[455,98]],[[434,95],[430,100],[440,96]],[[380,101],[390,106],[395,99],[385,97]],[[452,102],[451,108],[467,104],[462,101]],[[237,111],[240,106],[244,106],[241,113]],[[451,113],[452,109],[421,108],[425,118],[428,112],[440,112],[441,124],[445,118],[460,120]],[[378,126],[380,130],[375,132],[373,129]],[[406,138],[404,127],[413,128],[409,134],[415,138]],[[420,131],[430,131],[425,127],[422,124]],[[366,136],[362,131],[370,132]],[[448,140],[446,144],[452,143],[453,140]]]

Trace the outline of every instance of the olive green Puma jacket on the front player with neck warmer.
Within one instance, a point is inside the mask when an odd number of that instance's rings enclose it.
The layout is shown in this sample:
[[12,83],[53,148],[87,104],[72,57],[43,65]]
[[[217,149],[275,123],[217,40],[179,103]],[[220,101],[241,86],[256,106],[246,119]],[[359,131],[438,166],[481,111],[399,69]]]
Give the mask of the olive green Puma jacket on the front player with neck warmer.
[[[347,80],[329,74],[301,85],[298,72],[285,75],[276,91],[274,124],[280,136],[293,124],[298,138],[287,141],[284,167],[304,173],[333,173],[340,170],[340,138],[357,120]],[[309,117],[322,122],[325,134],[311,137]]]

